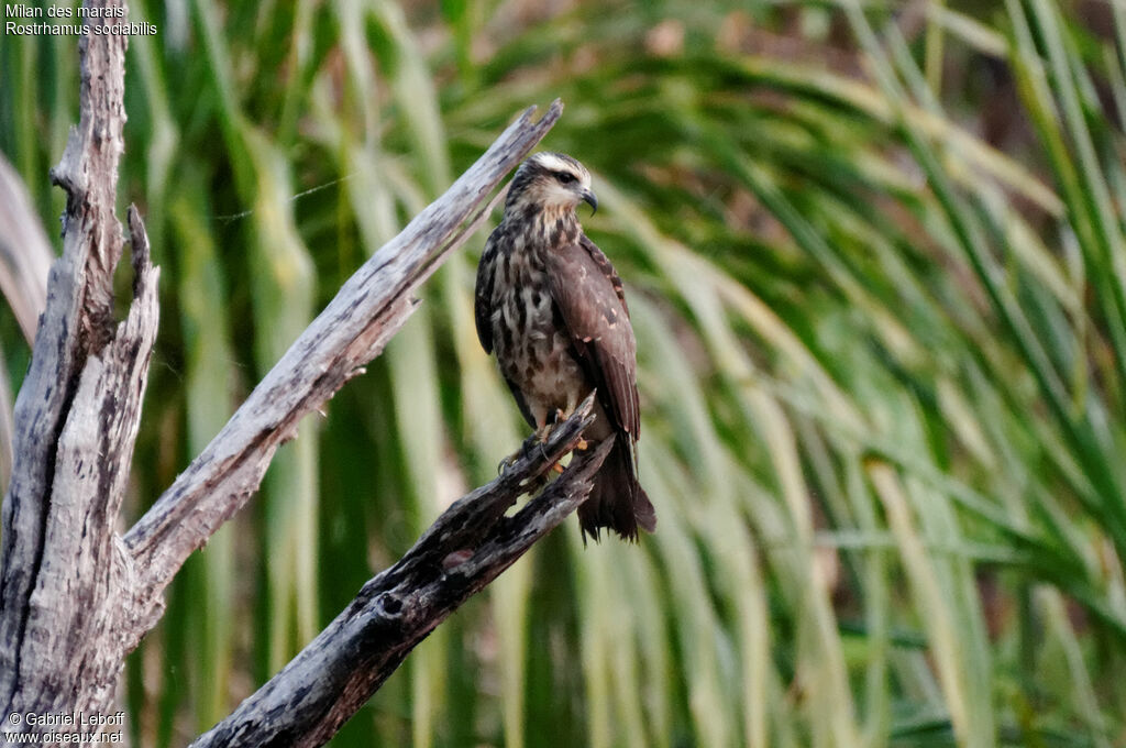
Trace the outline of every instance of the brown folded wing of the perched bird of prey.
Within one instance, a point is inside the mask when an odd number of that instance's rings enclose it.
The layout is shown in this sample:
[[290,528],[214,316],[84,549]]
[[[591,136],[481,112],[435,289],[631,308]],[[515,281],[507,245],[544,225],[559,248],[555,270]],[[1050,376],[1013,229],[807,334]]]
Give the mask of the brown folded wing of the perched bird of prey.
[[571,335],[575,357],[598,388],[615,430],[637,439],[637,360],[622,279],[610,260],[584,234],[548,255],[552,299]]

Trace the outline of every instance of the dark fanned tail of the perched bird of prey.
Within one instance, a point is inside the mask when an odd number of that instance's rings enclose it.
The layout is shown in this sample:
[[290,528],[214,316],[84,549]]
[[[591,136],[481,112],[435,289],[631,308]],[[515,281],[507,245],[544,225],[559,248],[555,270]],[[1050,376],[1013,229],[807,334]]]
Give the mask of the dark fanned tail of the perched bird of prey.
[[579,506],[583,540],[590,535],[597,542],[602,527],[627,541],[637,540],[638,527],[649,533],[656,529],[656,513],[637,482],[627,444],[626,437],[616,437],[610,454],[595,475],[590,497]]

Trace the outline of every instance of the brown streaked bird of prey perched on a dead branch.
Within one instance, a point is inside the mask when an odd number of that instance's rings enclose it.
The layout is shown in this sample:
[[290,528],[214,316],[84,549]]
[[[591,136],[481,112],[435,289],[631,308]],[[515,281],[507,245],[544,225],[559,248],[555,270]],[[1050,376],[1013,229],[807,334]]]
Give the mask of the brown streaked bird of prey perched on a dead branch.
[[582,232],[580,203],[598,210],[590,172],[570,155],[537,153],[520,166],[477,267],[477,337],[542,439],[597,390],[583,436],[615,443],[579,523],[596,541],[602,527],[636,540],[638,527],[656,528],[636,472],[636,342],[622,279]]

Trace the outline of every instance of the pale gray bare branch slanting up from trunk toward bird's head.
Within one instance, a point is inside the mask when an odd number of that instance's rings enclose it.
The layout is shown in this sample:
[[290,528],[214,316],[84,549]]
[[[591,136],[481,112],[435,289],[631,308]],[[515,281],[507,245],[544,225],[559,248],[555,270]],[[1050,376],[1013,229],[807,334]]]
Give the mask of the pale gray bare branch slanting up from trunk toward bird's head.
[[301,419],[363,373],[403,326],[415,304],[414,290],[488,217],[482,204],[562,108],[554,103],[536,123],[535,107],[525,112],[445,195],[368,259],[126,534],[142,597],[153,605],[151,616],[159,617],[160,593],[185,559],[257,490],[274,452],[296,435]]

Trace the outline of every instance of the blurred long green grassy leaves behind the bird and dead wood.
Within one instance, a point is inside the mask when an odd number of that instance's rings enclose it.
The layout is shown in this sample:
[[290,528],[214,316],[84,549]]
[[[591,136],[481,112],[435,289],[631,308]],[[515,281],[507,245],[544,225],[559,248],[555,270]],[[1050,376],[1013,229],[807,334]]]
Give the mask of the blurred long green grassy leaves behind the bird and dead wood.
[[[120,192],[163,273],[128,517],[528,104],[565,100],[544,145],[629,286],[659,532],[569,523],[332,745],[1126,742],[1126,6],[131,6]],[[73,38],[3,38],[48,226],[77,90]],[[483,241],[185,569],[136,745],[225,715],[521,438]]]

